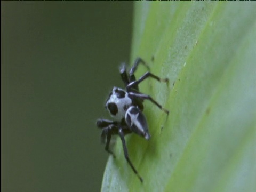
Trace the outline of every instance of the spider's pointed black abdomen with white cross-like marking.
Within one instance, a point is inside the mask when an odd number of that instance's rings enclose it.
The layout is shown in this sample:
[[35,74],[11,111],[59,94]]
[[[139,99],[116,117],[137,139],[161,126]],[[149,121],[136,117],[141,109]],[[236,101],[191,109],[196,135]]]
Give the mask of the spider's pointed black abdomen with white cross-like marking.
[[132,132],[141,135],[147,140],[150,138],[146,117],[138,107],[131,106],[127,109],[125,122],[131,128]]

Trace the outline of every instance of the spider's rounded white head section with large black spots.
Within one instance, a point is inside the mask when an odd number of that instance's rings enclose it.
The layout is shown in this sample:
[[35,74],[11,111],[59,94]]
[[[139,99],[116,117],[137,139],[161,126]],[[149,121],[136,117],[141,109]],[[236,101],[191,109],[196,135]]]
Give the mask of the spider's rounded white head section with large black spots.
[[117,121],[125,117],[126,110],[132,105],[128,93],[120,88],[114,87],[106,102],[106,108],[110,115]]

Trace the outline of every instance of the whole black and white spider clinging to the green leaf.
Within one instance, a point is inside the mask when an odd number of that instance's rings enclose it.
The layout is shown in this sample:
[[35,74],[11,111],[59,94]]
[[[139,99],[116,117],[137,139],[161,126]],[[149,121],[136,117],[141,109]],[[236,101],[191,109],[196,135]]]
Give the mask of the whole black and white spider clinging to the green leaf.
[[123,90],[118,87],[114,87],[106,102],[106,108],[109,111],[110,115],[115,119],[110,121],[108,119],[98,119],[97,126],[102,129],[101,141],[106,142],[106,151],[112,154],[114,153],[109,149],[109,144],[112,135],[119,135],[122,140],[124,156],[126,161],[132,167],[132,170],[135,174],[138,175],[141,182],[143,179],[138,174],[138,171],[134,168],[126,147],[124,136],[129,133],[136,133],[142,136],[145,139],[150,138],[148,132],[148,125],[146,117],[142,114],[143,111],[143,100],[150,100],[158,108],[162,109],[166,114],[169,114],[169,111],[164,109],[158,102],[156,102],[150,95],[142,94],[139,92],[138,84],[141,83],[148,77],[152,77],[159,82],[168,82],[168,78],[159,78],[158,76],[147,72],[141,76],[138,80],[135,79],[134,72],[137,69],[139,63],[145,65],[149,68],[145,61],[141,58],[137,58],[134,62],[134,65],[130,69],[129,74],[126,71],[126,65],[122,64],[120,67],[120,75],[125,84],[126,90]]

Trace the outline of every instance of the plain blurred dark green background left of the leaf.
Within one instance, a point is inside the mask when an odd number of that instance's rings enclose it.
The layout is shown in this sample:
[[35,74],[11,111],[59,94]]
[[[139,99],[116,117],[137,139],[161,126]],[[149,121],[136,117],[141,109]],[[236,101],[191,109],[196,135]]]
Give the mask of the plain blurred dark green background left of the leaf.
[[2,191],[99,191],[132,2],[1,2]]

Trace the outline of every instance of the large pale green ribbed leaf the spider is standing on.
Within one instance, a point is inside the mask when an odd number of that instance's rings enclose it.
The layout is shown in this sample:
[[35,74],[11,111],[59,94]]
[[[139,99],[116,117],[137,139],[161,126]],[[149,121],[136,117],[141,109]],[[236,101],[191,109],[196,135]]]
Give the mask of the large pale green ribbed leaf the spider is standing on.
[[[140,90],[151,138],[126,136],[140,183],[117,139],[102,191],[256,189],[256,3],[136,2],[131,61],[151,72]],[[154,60],[152,58],[154,57]],[[132,64],[132,63],[131,63]],[[137,77],[146,72],[139,67]]]

